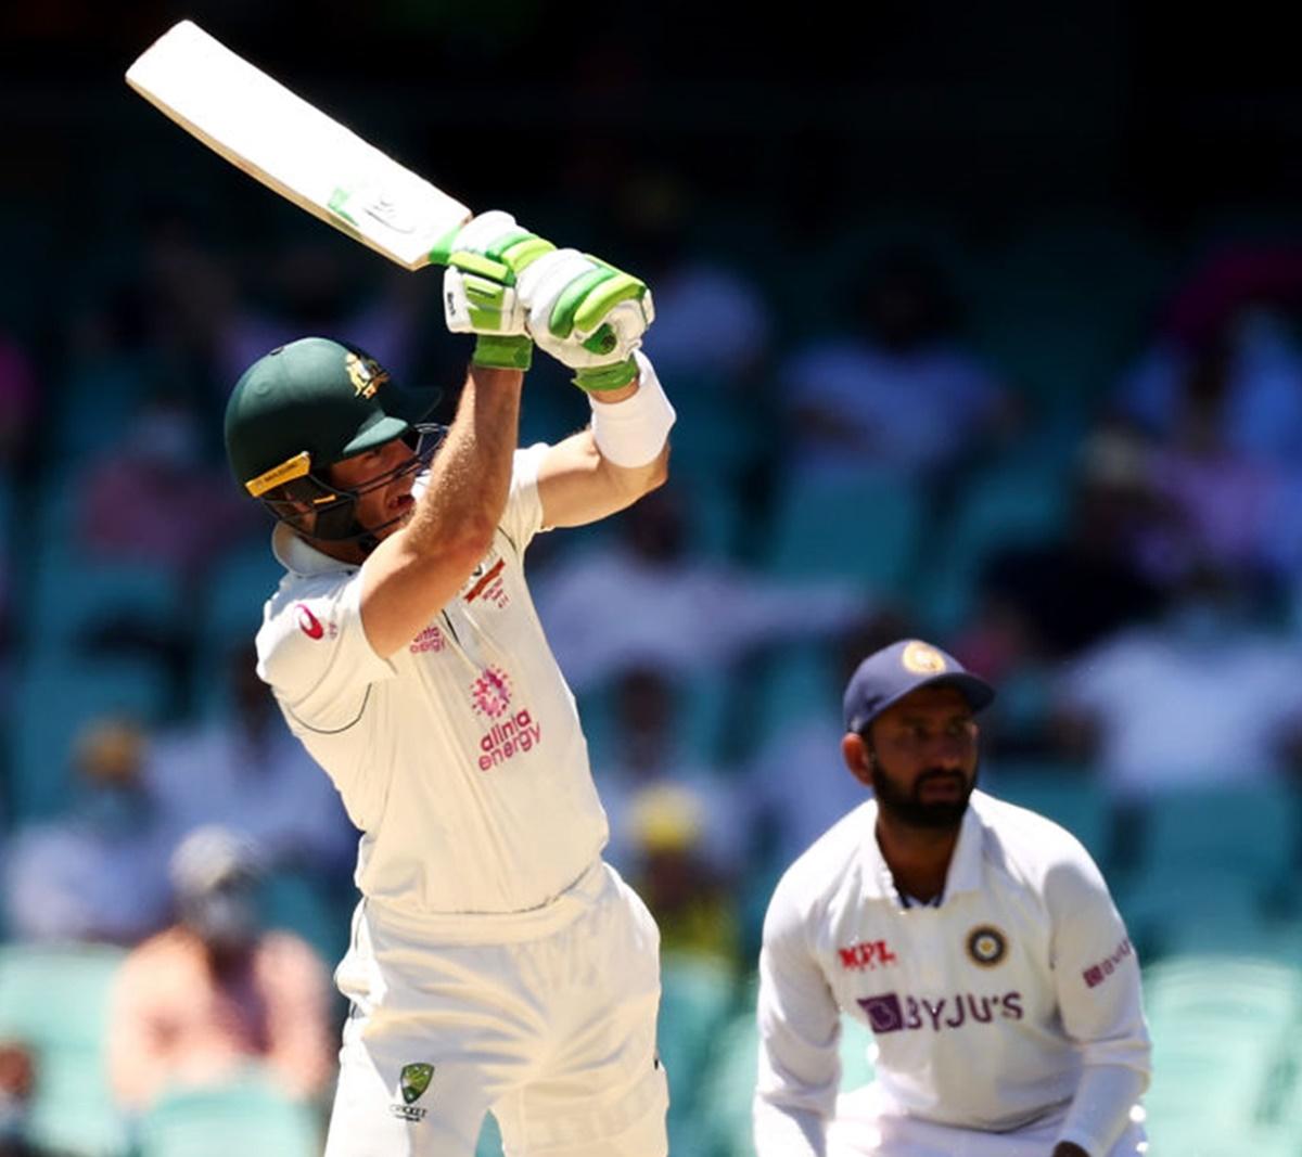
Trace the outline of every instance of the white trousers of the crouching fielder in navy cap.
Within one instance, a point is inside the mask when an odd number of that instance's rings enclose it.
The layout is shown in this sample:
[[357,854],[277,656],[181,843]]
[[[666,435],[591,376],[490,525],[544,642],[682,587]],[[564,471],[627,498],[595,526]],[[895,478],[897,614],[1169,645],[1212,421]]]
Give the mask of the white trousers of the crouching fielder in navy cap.
[[[1064,1114],[1014,1132],[978,1132],[889,1111],[875,1084],[842,1093],[827,1131],[827,1157],[1048,1157]],[[1143,1128],[1126,1126],[1105,1157],[1143,1154]]]

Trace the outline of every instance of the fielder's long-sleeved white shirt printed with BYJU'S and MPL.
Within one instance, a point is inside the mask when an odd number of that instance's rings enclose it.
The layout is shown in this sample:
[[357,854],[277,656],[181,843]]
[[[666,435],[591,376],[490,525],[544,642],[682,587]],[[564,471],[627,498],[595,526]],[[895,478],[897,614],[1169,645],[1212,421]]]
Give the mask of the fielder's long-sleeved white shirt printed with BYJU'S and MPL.
[[832,1117],[842,1014],[872,1031],[893,1111],[941,1124],[1014,1130],[1068,1104],[1086,1065],[1147,1075],[1135,954],[1070,833],[974,791],[940,905],[905,907],[876,813],[870,799],[831,828],[769,903],[760,1157],[823,1152],[801,1137]]

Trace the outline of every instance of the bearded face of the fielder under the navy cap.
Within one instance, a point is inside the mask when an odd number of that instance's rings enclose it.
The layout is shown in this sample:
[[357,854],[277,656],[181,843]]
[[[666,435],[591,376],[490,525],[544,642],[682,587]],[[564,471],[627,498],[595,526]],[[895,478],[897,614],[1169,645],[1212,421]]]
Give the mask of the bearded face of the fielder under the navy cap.
[[849,734],[842,754],[879,808],[915,828],[957,828],[976,786],[978,729],[954,687],[919,687]]

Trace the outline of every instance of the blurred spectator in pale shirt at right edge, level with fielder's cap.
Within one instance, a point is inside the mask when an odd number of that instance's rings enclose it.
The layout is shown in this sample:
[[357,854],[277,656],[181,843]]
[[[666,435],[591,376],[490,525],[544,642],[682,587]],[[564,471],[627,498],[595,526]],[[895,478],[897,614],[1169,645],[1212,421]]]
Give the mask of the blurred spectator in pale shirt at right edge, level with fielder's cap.
[[1082,653],[1056,683],[1069,752],[1118,798],[1295,769],[1302,656],[1250,610],[1232,575],[1194,570],[1159,622]]

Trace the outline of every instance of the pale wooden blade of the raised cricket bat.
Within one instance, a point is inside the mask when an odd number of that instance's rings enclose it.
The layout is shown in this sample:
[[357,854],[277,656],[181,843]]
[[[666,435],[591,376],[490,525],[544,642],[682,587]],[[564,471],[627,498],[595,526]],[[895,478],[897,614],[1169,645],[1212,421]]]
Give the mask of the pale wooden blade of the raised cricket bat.
[[470,210],[367,144],[191,21],[174,25],[126,83],[215,152],[408,269]]

